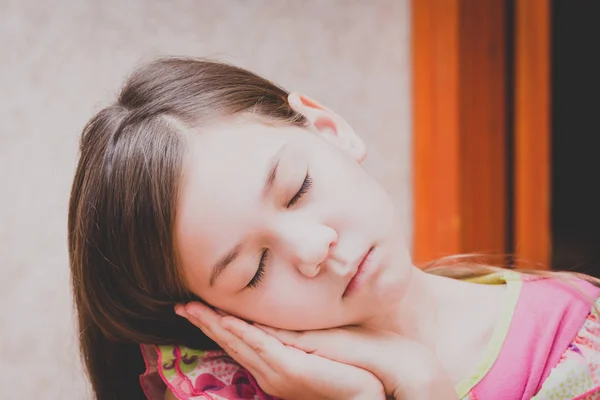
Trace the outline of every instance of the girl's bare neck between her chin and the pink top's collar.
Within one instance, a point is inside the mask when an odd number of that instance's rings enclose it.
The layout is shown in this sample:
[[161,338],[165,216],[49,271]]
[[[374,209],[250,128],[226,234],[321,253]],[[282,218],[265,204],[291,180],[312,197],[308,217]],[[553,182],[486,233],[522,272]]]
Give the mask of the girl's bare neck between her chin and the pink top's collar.
[[504,288],[436,276],[416,267],[407,279],[396,306],[365,325],[429,348],[459,381],[475,367],[491,338]]

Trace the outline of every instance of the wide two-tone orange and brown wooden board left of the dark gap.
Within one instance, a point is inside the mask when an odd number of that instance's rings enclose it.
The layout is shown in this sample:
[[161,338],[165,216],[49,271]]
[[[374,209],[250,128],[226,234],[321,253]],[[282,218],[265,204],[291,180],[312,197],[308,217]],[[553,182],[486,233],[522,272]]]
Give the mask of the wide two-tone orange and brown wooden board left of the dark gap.
[[506,251],[502,0],[413,1],[415,262]]

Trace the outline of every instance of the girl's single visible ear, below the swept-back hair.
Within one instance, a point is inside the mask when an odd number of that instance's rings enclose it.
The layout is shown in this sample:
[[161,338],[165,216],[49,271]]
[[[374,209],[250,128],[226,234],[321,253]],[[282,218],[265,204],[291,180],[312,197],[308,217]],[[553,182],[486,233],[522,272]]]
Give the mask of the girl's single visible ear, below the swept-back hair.
[[300,93],[290,93],[288,103],[294,111],[302,114],[324,139],[348,152],[359,163],[366,158],[364,142],[342,117]]

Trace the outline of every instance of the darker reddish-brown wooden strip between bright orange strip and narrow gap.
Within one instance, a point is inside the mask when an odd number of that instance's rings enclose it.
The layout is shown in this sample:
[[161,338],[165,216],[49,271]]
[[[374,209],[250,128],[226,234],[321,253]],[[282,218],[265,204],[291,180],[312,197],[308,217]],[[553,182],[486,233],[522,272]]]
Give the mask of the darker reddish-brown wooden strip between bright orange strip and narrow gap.
[[506,6],[464,0],[461,8],[463,252],[505,253]]

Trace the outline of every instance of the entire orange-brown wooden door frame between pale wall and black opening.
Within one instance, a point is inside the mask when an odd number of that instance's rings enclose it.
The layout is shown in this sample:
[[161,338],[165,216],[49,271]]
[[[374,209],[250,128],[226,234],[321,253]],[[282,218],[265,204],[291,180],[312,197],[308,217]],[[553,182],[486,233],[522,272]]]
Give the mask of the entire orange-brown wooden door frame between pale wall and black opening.
[[548,265],[548,47],[549,0],[412,2],[416,263],[478,252]]

